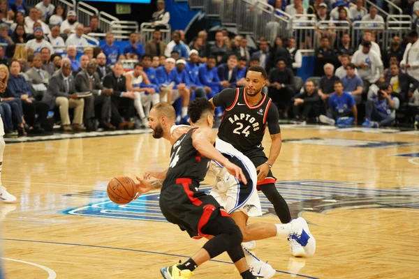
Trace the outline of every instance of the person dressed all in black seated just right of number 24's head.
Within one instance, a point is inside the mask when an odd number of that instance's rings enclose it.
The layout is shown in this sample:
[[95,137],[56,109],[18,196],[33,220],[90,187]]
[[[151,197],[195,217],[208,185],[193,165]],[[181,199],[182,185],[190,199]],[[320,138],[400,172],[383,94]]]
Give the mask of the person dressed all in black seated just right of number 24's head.
[[284,118],[288,118],[291,98],[295,94],[295,89],[293,71],[286,68],[285,59],[278,59],[277,68],[274,68],[269,74],[267,86],[272,102],[283,112]]

